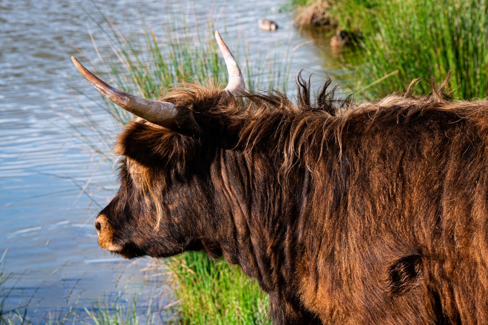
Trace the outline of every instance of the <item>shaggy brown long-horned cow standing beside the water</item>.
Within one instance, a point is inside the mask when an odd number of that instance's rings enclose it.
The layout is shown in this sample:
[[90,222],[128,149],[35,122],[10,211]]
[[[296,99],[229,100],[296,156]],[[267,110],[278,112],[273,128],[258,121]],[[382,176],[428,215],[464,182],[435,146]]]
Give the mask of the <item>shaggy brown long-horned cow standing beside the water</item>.
[[95,221],[126,258],[204,249],[269,293],[275,324],[488,324],[488,104],[427,96],[297,104],[182,85],[162,101],[81,73],[140,116]]

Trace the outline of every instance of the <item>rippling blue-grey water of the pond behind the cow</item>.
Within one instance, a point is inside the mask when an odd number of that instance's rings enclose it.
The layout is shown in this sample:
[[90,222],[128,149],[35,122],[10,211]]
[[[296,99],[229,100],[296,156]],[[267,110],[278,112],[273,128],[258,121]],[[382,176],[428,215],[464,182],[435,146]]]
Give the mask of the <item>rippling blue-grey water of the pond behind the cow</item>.
[[[312,42],[292,26],[291,13],[280,10],[285,4],[287,0],[240,1],[239,6],[224,0],[210,5],[206,0],[0,2],[0,256],[6,252],[1,267],[4,274],[12,273],[0,294],[14,287],[8,306],[32,298],[28,315],[36,323],[46,313],[60,314],[70,306],[82,313],[121,291],[126,300],[141,294],[141,305],[154,293],[144,286],[151,272],[142,271],[151,261],[110,255],[98,247],[93,229],[94,216],[109,202],[116,184],[112,166],[91,153],[76,131],[96,138],[84,125],[86,111],[80,103],[109,134],[118,128],[70,57],[81,52],[98,61],[90,33],[99,46],[108,44],[104,17],[124,36],[142,32],[141,16],[157,32],[173,21],[175,12],[185,13],[190,33],[196,31],[196,21],[206,26],[211,19],[224,39],[245,38],[256,49],[252,55],[263,62],[272,59],[268,53],[287,60],[293,52],[291,72],[304,68],[305,75],[313,73],[322,81],[335,59],[324,52],[326,46],[316,46],[317,39]],[[280,28],[260,31],[260,18],[273,19]],[[293,76],[284,77],[293,84]],[[158,299],[161,305],[171,302],[170,295]]]

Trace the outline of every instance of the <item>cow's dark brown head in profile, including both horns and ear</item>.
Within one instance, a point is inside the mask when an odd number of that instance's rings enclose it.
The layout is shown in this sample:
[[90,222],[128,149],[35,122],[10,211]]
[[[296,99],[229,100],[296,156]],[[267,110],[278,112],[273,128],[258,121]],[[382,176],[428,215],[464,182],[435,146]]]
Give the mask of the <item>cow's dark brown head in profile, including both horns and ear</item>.
[[[121,187],[95,220],[103,249],[126,258],[165,257],[202,248],[212,252],[212,242],[199,235],[208,227],[201,220],[209,220],[214,213],[209,201],[214,191],[209,161],[215,148],[205,137],[214,133],[215,138],[219,129],[212,121],[211,107],[224,107],[244,92],[242,73],[219,33],[215,34],[229,73],[227,87],[202,87],[202,93],[198,86],[175,90],[164,101],[112,88],[72,57],[102,95],[138,116],[117,141],[116,150],[122,156]],[[195,123],[195,118],[201,123]],[[207,130],[198,130],[198,125],[206,125]],[[221,253],[219,248],[213,249],[215,255]]]

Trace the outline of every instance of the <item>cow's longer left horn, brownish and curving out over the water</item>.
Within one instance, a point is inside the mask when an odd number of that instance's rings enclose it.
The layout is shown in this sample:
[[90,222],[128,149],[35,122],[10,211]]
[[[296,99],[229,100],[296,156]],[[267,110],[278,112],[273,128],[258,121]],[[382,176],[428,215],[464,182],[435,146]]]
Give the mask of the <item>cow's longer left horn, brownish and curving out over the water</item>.
[[141,98],[124,93],[92,74],[76,57],[71,57],[71,60],[78,71],[80,71],[93,87],[124,110],[163,127],[170,128],[175,126],[175,118],[178,111],[173,103]]

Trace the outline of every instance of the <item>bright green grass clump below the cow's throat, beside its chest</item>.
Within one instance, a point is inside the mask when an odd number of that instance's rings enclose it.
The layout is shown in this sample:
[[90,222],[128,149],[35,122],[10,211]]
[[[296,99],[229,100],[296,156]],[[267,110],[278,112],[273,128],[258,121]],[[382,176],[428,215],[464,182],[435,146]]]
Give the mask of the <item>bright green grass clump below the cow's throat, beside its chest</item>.
[[168,260],[180,303],[178,324],[271,324],[268,296],[241,268],[203,252],[187,252]]

